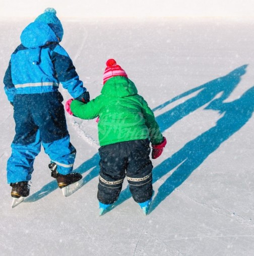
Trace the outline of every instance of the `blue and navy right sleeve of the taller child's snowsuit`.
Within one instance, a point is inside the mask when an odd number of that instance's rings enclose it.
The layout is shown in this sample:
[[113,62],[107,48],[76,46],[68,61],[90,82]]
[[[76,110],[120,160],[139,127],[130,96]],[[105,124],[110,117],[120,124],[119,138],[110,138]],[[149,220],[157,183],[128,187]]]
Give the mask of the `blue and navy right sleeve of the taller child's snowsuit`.
[[59,44],[53,49],[51,60],[57,79],[63,88],[69,91],[72,97],[77,98],[87,90],[83,86],[83,82],[79,79],[71,58]]

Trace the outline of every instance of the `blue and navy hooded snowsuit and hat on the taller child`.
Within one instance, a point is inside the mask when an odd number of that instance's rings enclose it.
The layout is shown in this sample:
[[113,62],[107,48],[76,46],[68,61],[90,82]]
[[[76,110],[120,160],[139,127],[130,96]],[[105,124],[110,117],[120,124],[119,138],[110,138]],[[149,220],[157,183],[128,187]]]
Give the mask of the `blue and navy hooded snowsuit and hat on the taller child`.
[[[53,10],[54,11],[54,10]],[[7,163],[8,183],[31,180],[41,144],[60,174],[73,170],[76,149],[70,143],[59,83],[72,97],[86,92],[72,60],[59,45],[63,30],[55,11],[46,11],[21,34],[4,77],[14,106],[16,135]]]

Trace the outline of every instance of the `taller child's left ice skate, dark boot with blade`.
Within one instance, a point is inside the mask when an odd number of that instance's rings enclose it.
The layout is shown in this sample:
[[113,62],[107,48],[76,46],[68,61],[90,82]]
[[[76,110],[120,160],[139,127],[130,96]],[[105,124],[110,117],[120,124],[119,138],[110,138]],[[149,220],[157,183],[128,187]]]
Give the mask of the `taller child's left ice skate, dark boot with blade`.
[[11,183],[10,186],[12,187],[11,196],[13,197],[12,208],[14,208],[23,202],[24,197],[29,195],[30,185],[28,181],[20,181]]

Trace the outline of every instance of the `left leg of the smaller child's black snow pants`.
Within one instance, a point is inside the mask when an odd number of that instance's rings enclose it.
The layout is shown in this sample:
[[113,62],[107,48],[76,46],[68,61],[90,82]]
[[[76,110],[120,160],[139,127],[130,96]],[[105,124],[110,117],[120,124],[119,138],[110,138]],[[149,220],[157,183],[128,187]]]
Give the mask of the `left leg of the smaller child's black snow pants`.
[[99,148],[100,175],[97,198],[102,203],[113,203],[119,197],[127,160],[123,152],[121,142]]

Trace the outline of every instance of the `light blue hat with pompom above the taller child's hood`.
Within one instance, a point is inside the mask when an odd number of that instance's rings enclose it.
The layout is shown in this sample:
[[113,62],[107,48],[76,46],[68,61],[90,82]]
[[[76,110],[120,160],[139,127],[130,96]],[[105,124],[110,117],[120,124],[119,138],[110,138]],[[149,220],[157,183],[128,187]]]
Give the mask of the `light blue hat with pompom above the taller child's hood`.
[[56,11],[54,8],[46,8],[44,13],[35,19],[35,22],[36,21],[48,24],[55,35],[59,38],[59,41],[61,41],[63,29],[60,20],[56,17]]

